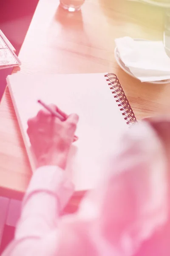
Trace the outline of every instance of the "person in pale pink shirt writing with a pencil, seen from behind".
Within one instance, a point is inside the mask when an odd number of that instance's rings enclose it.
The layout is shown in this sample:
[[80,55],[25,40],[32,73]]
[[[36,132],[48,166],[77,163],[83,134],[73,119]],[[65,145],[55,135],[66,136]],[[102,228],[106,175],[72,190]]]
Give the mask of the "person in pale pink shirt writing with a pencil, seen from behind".
[[169,256],[170,119],[122,134],[102,183],[61,217],[74,192],[64,170],[79,117],[51,108],[65,121],[46,110],[28,120],[38,168],[3,256]]

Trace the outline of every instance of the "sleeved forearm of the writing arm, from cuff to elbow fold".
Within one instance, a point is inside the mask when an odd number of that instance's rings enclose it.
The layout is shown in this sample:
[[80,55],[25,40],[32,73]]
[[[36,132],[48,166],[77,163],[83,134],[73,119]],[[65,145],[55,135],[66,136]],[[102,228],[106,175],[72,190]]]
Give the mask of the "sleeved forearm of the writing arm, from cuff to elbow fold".
[[57,219],[74,191],[62,169],[43,166],[34,173],[16,229],[16,239],[42,237],[56,227]]

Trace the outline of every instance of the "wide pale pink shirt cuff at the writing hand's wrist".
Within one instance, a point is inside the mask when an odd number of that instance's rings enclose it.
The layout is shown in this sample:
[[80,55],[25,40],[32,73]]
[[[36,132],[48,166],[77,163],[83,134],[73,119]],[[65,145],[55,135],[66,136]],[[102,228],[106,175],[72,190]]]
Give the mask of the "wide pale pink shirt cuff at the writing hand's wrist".
[[54,194],[62,210],[73,195],[74,185],[68,180],[64,170],[58,166],[42,166],[34,172],[24,201],[27,201],[28,197],[35,192]]

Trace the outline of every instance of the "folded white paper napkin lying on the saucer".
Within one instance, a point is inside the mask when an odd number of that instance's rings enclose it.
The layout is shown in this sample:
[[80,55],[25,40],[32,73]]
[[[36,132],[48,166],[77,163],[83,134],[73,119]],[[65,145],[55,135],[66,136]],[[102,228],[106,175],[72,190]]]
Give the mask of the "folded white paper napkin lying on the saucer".
[[161,41],[115,39],[121,60],[136,78],[144,81],[170,79],[170,58]]

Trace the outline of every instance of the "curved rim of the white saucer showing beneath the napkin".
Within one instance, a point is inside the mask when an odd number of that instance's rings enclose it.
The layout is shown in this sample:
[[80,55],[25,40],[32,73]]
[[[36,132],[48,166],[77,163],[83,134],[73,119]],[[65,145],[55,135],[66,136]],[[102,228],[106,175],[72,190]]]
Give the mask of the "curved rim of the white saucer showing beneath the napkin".
[[[136,40],[136,41],[139,41],[139,40],[140,40],[140,41],[146,41],[146,40],[144,40],[144,39],[134,39],[134,40]],[[128,75],[130,75],[130,76],[132,76],[132,77],[138,79],[136,76],[134,76],[134,75],[131,73],[130,69],[129,69],[128,67],[126,67],[125,64],[123,63],[123,61],[121,60],[120,55],[119,55],[119,51],[118,51],[117,47],[116,47],[115,50],[114,50],[114,55],[115,55],[116,62],[117,62],[117,64],[119,65],[119,67],[121,67],[122,70],[124,70]],[[138,79],[138,80],[139,80],[139,79]],[[140,81],[140,80],[139,80],[139,81]],[[143,82],[142,82],[142,83],[143,83]],[[168,83],[170,83],[170,79],[161,80],[161,81],[148,81],[148,82],[146,82],[146,83],[150,83],[150,84],[168,84]]]

